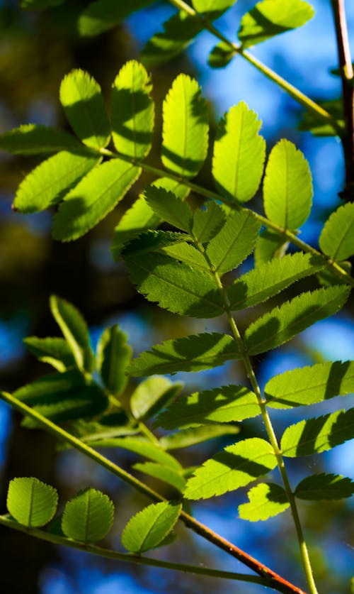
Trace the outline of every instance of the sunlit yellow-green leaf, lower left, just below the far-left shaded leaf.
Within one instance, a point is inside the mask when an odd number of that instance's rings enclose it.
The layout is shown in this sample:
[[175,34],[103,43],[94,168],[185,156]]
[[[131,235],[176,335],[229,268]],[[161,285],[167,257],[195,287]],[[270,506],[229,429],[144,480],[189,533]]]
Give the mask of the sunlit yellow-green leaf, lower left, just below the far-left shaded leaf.
[[35,167],[21,182],[13,208],[23,213],[39,212],[57,204],[95,165],[98,157],[62,151]]

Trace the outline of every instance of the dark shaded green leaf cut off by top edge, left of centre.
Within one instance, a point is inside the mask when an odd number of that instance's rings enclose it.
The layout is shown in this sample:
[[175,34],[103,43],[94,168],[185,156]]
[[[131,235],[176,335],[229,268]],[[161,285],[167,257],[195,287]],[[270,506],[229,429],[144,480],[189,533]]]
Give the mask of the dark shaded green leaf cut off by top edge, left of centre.
[[130,0],[129,3],[112,0],[90,2],[79,17],[79,33],[87,37],[112,29],[132,12],[149,6],[154,0]]

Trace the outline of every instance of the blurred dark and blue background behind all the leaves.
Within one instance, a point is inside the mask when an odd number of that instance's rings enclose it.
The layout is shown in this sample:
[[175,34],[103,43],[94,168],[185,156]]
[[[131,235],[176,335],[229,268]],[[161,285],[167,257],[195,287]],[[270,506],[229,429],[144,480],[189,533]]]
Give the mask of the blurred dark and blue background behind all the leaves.
[[[70,0],[63,6],[42,13],[21,11],[17,1],[0,0],[0,132],[21,123],[44,123],[65,127],[58,91],[62,77],[73,67],[88,70],[101,84],[106,98],[110,85],[126,60],[139,57],[139,50],[157,31],[174,9],[167,2],[139,11],[112,31],[96,38],[80,39],[76,33],[79,12],[88,4]],[[243,13],[253,1],[239,0],[217,26],[236,40]],[[329,0],[313,0],[316,14],[303,28],[280,35],[259,45],[254,54],[266,65],[314,99],[337,99],[341,83],[331,68],[337,65],[335,35]],[[354,4],[346,2],[348,28],[354,51]],[[262,132],[268,152],[280,138],[289,138],[304,152],[314,177],[312,215],[302,229],[301,238],[316,246],[321,227],[330,212],[341,204],[338,192],[343,187],[343,155],[336,138],[316,138],[300,132],[297,125],[302,109],[284,92],[265,79],[251,65],[236,57],[225,70],[212,70],[207,55],[215,45],[210,33],[202,33],[181,56],[152,72],[156,101],[156,138],[149,163],[159,166],[161,104],[179,72],[198,79],[210,106],[211,136],[224,111],[241,99],[263,120]],[[122,212],[134,201],[142,186],[152,181],[146,175],[130,194],[96,229],[84,238],[60,244],[50,237],[49,212],[23,216],[11,211],[18,184],[38,164],[36,158],[11,158],[0,155],[0,387],[15,390],[49,369],[25,352],[25,336],[55,336],[58,329],[49,314],[52,293],[72,301],[89,323],[93,344],[108,324],[118,322],[130,337],[135,355],[152,344],[174,336],[197,331],[222,329],[219,320],[193,321],[157,309],[144,302],[127,280],[125,269],[110,255],[113,229]],[[198,182],[212,187],[210,160]],[[257,202],[258,201],[258,202]],[[261,211],[261,201],[255,207]],[[246,260],[243,270],[251,266]],[[304,287],[316,286],[306,280]],[[296,290],[301,285],[298,284]],[[292,296],[292,290],[286,297]],[[284,299],[282,297],[281,299]],[[273,299],[276,304],[277,299]],[[268,304],[267,304],[267,309]],[[246,327],[253,312],[239,320]],[[227,329],[225,328],[225,331]],[[315,324],[280,350],[258,356],[256,372],[261,385],[276,373],[319,361],[354,358],[353,302],[330,320]],[[215,387],[245,381],[239,365],[228,363],[206,373],[178,374],[186,393],[197,387]],[[335,407],[353,405],[353,397],[333,399],[310,414],[321,414]],[[275,427],[282,429],[302,418],[304,411],[272,414]],[[87,485],[108,493],[115,502],[116,524],[107,542],[120,547],[119,534],[129,517],[147,504],[142,496],[96,468],[79,453],[57,453],[50,436],[42,431],[26,431],[20,419],[0,403],[1,513],[6,510],[8,481],[14,476],[33,475],[57,486],[60,500],[66,501]],[[241,436],[250,431],[262,435],[256,422],[246,422]],[[232,443],[219,439],[190,451],[187,464],[198,464]],[[185,460],[185,452],[182,452]],[[109,455],[118,460],[115,451]],[[126,468],[132,456],[119,454]],[[338,446],[318,457],[290,461],[292,483],[311,472],[336,472],[353,477],[354,445]],[[278,479],[275,476],[275,480]],[[163,490],[163,486],[156,485]],[[268,564],[290,581],[304,586],[290,513],[285,512],[266,523],[244,522],[237,517],[237,505],[246,501],[244,490],[207,500],[195,506],[195,515],[223,537],[232,540]],[[319,590],[324,594],[350,591],[354,574],[353,500],[340,502],[300,502]],[[1,528],[0,588],[4,594],[189,594],[198,592],[256,594],[260,588],[212,578],[186,576],[159,569],[129,566],[96,559],[93,556],[54,548],[20,533]],[[190,561],[244,571],[244,567],[182,529],[181,540],[157,556],[173,561]]]

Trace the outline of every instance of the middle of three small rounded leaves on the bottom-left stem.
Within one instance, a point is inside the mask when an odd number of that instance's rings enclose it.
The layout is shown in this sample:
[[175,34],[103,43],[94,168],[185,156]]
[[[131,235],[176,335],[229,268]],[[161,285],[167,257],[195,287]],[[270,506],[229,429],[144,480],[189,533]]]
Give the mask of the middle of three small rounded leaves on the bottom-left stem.
[[96,489],[79,491],[67,502],[62,517],[65,536],[80,542],[96,542],[113,526],[114,506],[107,495]]

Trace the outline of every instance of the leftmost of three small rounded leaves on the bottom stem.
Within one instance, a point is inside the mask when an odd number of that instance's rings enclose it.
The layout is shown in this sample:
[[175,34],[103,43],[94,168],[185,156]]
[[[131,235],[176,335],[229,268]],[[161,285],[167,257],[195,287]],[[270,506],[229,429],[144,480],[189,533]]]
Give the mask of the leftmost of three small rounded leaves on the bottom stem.
[[57,490],[38,478],[13,478],[8,485],[6,505],[11,516],[23,526],[44,526],[57,510]]

